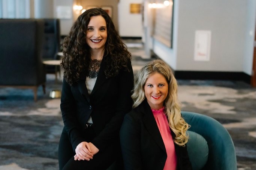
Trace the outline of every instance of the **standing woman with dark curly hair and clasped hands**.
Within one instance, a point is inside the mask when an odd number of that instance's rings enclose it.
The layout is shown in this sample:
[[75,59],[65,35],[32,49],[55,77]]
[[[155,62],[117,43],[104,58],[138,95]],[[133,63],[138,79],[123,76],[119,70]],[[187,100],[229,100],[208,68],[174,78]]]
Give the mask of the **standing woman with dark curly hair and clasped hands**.
[[63,41],[63,55],[59,168],[118,165],[119,130],[132,108],[133,71],[131,54],[108,13],[100,8],[82,13]]

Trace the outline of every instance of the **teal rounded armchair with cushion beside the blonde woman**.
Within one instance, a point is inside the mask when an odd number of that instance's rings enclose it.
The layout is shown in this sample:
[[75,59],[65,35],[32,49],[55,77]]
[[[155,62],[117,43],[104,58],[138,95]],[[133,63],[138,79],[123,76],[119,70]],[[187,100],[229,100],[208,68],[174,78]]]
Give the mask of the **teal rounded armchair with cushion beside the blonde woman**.
[[237,170],[235,146],[217,120],[194,112],[181,112],[191,125],[187,150],[193,170]]

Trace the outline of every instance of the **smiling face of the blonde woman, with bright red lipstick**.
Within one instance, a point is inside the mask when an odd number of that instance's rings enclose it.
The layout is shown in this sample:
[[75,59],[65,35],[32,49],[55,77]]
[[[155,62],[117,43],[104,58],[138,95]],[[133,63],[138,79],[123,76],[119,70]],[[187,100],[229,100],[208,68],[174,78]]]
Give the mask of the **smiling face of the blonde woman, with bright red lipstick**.
[[168,83],[162,74],[156,72],[148,77],[144,91],[150,107],[158,110],[168,95]]

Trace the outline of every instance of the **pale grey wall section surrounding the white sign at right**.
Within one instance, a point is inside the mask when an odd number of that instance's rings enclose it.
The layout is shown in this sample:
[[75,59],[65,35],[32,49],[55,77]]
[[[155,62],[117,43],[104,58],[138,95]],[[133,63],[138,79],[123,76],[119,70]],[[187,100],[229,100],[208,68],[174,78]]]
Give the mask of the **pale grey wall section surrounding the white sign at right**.
[[[200,5],[199,5],[200,4]],[[177,70],[243,70],[246,1],[180,1]],[[210,61],[195,61],[195,31],[211,31]]]

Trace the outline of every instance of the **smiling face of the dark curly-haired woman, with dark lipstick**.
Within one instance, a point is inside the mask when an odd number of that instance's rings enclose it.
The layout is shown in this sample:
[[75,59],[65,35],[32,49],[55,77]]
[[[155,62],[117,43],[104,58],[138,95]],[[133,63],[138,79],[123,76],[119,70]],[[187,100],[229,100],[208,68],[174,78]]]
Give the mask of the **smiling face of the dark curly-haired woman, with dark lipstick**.
[[107,36],[105,19],[101,15],[92,16],[86,31],[86,43],[91,50],[103,50]]

